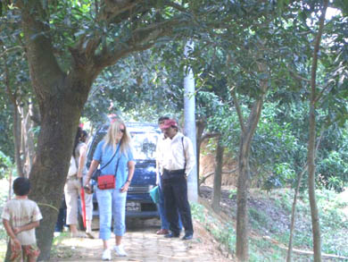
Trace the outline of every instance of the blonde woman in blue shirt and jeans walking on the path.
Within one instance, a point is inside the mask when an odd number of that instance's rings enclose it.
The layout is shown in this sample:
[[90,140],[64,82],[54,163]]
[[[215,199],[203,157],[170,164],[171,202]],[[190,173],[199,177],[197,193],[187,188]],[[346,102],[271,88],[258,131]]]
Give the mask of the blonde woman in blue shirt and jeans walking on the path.
[[99,238],[103,240],[103,260],[111,260],[109,239],[113,216],[113,232],[115,234],[114,251],[119,257],[126,257],[127,253],[121,245],[122,236],[126,232],[126,199],[130,181],[132,180],[136,162],[130,145],[130,135],[125,123],[120,119],[113,119],[104,139],[95,148],[92,163],[87,173],[86,186],[92,173],[100,165],[103,167],[101,175],[114,174],[116,176],[113,189],[96,189],[96,199],[99,207]]

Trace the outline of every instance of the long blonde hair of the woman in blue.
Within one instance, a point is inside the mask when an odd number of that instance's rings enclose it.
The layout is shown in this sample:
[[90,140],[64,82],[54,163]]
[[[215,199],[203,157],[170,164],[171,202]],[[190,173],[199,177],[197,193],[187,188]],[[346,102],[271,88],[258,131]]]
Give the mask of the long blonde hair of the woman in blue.
[[120,119],[112,120],[112,123],[110,123],[110,127],[104,137],[104,141],[105,141],[104,148],[106,146],[112,146],[113,151],[116,150],[116,145],[119,142],[117,140],[117,136],[120,131],[121,125],[124,126],[124,132],[123,132],[122,138],[120,139],[120,152],[126,153],[127,149],[130,148],[130,142],[131,142],[130,135],[127,131],[126,124]]

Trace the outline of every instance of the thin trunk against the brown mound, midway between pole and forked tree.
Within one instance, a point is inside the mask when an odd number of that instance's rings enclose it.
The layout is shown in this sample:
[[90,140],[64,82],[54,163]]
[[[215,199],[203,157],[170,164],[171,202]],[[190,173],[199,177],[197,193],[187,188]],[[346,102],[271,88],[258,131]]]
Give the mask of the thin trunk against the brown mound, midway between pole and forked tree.
[[220,213],[221,199],[221,180],[222,180],[222,164],[224,156],[224,147],[221,145],[221,136],[219,136],[216,157],[215,157],[215,173],[214,173],[214,189],[212,194],[211,207],[216,213]]

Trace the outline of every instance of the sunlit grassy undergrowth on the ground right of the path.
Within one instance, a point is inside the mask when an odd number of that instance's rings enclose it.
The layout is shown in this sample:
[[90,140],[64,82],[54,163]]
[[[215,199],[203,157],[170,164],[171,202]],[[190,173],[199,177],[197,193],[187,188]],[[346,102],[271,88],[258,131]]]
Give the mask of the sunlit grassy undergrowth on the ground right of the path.
[[[233,195],[231,193],[229,198]],[[348,192],[338,194],[331,190],[317,190],[316,196],[322,254],[348,257]],[[252,190],[251,198],[253,201],[249,205],[250,261],[285,261],[294,190],[273,190],[269,194],[261,190]],[[192,209],[195,219],[234,254],[236,230],[232,225],[233,218],[229,217],[228,221],[221,222],[221,219],[212,215],[203,205],[195,204]],[[297,200],[293,246],[294,249],[306,251],[312,249],[311,207],[307,192],[301,193]],[[311,261],[312,256],[293,252],[293,260]]]

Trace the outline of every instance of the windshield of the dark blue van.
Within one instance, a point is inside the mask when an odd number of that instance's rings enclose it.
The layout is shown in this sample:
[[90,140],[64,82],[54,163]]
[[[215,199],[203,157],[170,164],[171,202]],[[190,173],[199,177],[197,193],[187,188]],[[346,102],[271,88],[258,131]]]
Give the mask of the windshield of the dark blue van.
[[156,132],[132,132],[132,145],[136,160],[154,160],[158,133]]

